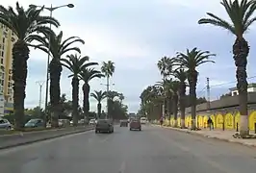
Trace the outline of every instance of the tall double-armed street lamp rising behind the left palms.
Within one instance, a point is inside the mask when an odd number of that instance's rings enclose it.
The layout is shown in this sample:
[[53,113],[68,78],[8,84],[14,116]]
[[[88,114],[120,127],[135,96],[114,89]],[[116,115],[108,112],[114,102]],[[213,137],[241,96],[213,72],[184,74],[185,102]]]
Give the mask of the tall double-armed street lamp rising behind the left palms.
[[[29,5],[30,8],[42,8],[42,6],[36,6],[34,4]],[[60,8],[74,8],[75,6],[73,4],[66,4],[63,6],[57,6],[53,7],[51,4],[50,8],[44,7],[44,9],[50,11],[50,17],[52,17],[52,12],[60,9]],[[52,28],[52,25],[50,24],[50,29]],[[47,103],[48,103],[48,90],[49,90],[49,63],[50,63],[50,37],[49,37],[49,45],[48,45],[48,58],[47,58],[47,66],[46,66],[46,86],[45,86],[45,106],[44,111],[46,112],[47,109]]]

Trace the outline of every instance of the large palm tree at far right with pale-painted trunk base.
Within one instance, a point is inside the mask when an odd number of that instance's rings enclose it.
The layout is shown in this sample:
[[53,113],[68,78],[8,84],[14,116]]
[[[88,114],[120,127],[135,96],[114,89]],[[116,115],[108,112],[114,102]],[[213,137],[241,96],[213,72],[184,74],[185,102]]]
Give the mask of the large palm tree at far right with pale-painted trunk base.
[[211,18],[202,18],[198,21],[199,24],[211,24],[223,28],[236,36],[235,43],[233,44],[233,59],[237,66],[237,87],[239,90],[239,103],[241,114],[240,135],[249,135],[248,130],[248,111],[247,111],[247,74],[246,65],[247,57],[249,54],[249,46],[244,39],[243,34],[248,31],[251,24],[255,21],[253,13],[256,10],[256,2],[251,0],[227,1],[222,0],[220,3],[227,12],[230,22],[225,21],[218,17],[216,14],[207,12]]

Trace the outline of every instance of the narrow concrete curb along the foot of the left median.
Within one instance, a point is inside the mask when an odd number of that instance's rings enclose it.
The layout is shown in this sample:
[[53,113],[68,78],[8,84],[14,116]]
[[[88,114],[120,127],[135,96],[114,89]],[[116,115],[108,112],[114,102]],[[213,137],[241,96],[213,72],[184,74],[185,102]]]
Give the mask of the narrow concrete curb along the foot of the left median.
[[48,139],[52,139],[52,138],[58,138],[61,136],[69,136],[69,135],[74,135],[74,134],[81,134],[87,131],[91,131],[93,130],[93,128],[89,128],[89,129],[84,129],[84,130],[78,130],[78,131],[70,131],[69,133],[66,134],[61,134],[61,135],[57,135],[57,136],[47,136],[47,137],[43,137],[43,138],[38,138],[35,140],[29,140],[29,141],[25,141],[25,142],[19,142],[19,143],[15,143],[15,144],[11,144],[8,146],[0,146],[0,151],[4,150],[4,149],[9,149],[9,148],[13,148],[13,147],[17,147],[17,146],[23,146],[23,145],[28,145],[28,144],[32,144],[32,143],[36,143],[38,141],[43,141],[43,140],[48,140]]

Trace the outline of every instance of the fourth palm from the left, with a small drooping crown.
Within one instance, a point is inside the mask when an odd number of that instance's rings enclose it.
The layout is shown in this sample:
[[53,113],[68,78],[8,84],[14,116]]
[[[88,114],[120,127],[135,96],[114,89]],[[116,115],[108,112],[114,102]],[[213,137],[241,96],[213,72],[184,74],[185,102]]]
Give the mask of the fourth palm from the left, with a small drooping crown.
[[104,75],[94,68],[84,68],[79,73],[79,79],[83,80],[85,83],[83,85],[83,92],[84,92],[84,102],[83,102],[83,111],[85,114],[85,119],[89,117],[89,111],[90,111],[90,102],[89,102],[89,93],[90,93],[90,80],[94,78],[101,78],[104,77]]

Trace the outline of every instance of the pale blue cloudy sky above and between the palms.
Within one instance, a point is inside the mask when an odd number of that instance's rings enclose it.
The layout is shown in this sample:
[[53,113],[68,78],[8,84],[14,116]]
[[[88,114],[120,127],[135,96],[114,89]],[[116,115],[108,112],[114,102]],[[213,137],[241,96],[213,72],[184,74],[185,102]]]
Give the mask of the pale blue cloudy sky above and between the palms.
[[[5,7],[16,1],[1,2]],[[235,37],[223,29],[198,25],[206,12],[213,12],[224,19],[227,15],[219,0],[20,0],[19,4],[28,8],[30,4],[45,7],[73,3],[74,8],[62,8],[53,12],[61,22],[56,32],[63,31],[64,37],[81,37],[85,44],[79,44],[82,56],[89,56],[91,62],[115,62],[115,74],[111,79],[111,89],[122,92],[124,104],[129,111],[138,111],[141,91],[161,80],[157,62],[163,57],[174,57],[176,52],[197,47],[217,54],[216,63],[203,64],[198,68],[197,95],[206,95],[206,78],[210,78],[211,100],[228,88],[236,85],[235,64],[231,50]],[[42,4],[43,3],[43,4]],[[202,8],[203,7],[203,8]],[[49,15],[49,12],[43,12]],[[256,76],[252,64],[256,64],[256,24],[245,38],[251,47],[248,57],[248,77]],[[38,106],[39,87],[37,81],[45,81],[47,55],[31,49],[27,80],[25,106]],[[100,68],[100,66],[98,67]],[[64,69],[61,91],[71,99],[69,72]],[[254,82],[250,79],[249,82]],[[102,85],[103,84],[103,85]],[[90,82],[91,91],[105,90],[105,79]],[[83,83],[81,82],[81,86]],[[42,102],[45,98],[45,85],[42,87]],[[82,90],[80,89],[82,104]],[[106,101],[105,101],[106,102]],[[105,108],[106,103],[103,103]],[[90,98],[90,111],[96,110],[96,101]]]

